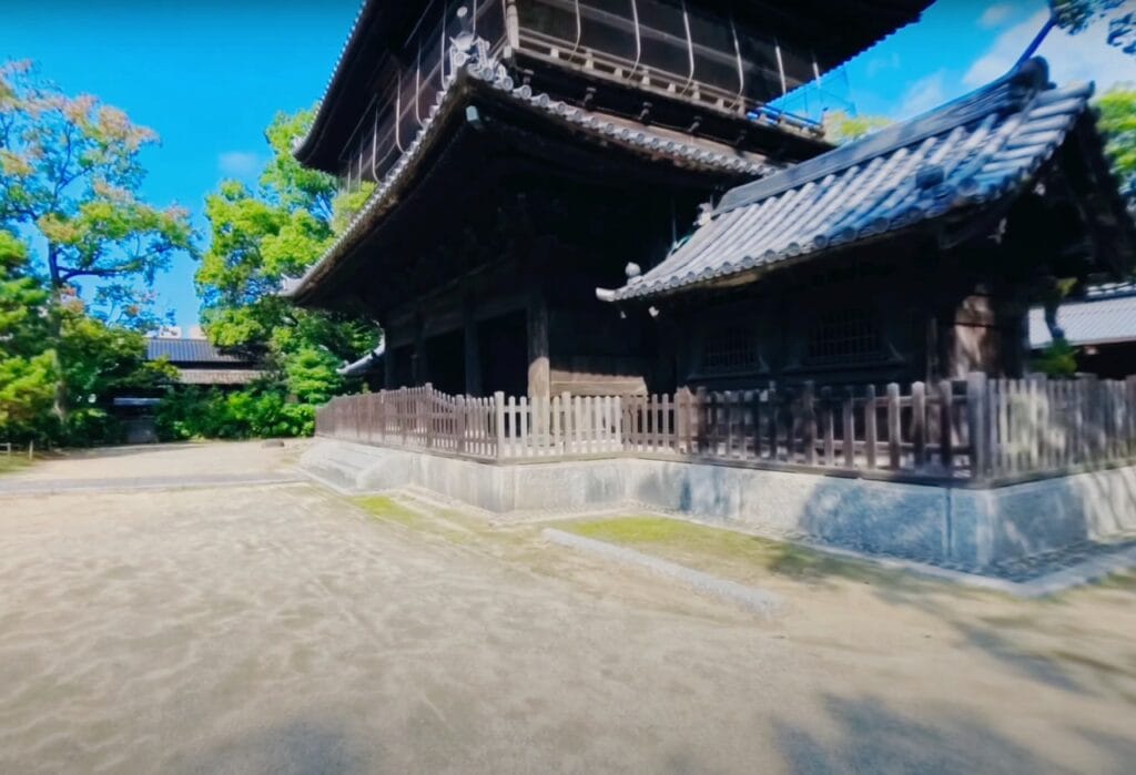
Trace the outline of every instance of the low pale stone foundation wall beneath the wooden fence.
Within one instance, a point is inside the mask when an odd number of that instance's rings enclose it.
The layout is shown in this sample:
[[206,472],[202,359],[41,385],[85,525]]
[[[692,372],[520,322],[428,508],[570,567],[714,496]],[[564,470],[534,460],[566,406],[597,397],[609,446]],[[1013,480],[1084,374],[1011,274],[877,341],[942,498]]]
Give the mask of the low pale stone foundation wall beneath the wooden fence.
[[1136,466],[969,489],[627,457],[476,463],[331,439],[302,464],[348,488],[415,486],[502,515],[651,509],[979,566],[1136,530]]

